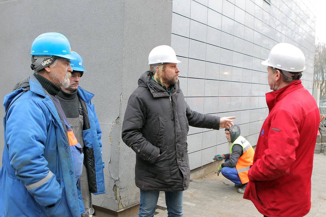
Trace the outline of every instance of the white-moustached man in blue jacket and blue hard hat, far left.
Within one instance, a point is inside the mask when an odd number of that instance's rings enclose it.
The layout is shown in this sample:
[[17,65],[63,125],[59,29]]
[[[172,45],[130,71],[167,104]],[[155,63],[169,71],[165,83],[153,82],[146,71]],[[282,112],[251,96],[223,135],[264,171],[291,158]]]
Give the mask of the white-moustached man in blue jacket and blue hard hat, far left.
[[[84,212],[83,152],[56,97],[60,86],[70,85],[70,59],[75,59],[70,50],[62,34],[39,35],[30,54],[34,75],[5,96],[0,216],[79,217]],[[97,138],[92,125],[83,132],[86,142]]]

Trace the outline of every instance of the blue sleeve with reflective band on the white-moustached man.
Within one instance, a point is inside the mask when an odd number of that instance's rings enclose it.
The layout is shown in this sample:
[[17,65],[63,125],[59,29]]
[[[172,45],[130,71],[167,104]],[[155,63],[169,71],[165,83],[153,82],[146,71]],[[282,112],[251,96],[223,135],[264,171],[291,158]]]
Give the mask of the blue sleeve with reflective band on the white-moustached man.
[[23,99],[13,103],[8,110],[5,132],[10,165],[18,179],[41,206],[56,203],[62,188],[44,157],[47,120],[37,102]]

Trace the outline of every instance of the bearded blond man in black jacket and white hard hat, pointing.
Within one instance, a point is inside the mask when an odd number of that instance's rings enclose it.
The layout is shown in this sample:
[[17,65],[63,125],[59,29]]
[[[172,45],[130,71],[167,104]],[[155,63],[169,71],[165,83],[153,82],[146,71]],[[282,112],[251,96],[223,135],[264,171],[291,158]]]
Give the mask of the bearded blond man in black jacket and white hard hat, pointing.
[[219,129],[235,117],[192,111],[178,81],[174,50],[155,47],[148,57],[151,71],[141,75],[131,94],[122,125],[122,139],[136,152],[135,183],[140,188],[138,216],[154,216],[159,191],[165,192],[168,216],[183,216],[183,190],[189,186],[189,125]]

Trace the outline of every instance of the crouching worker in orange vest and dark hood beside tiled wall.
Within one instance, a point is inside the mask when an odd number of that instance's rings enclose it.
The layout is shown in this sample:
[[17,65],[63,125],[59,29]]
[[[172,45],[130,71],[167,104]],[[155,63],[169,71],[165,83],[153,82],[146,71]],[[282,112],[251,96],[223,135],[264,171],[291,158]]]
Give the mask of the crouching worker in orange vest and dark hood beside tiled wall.
[[229,129],[225,129],[225,137],[228,142],[232,142],[230,154],[215,155],[213,160],[225,162],[218,167],[217,175],[221,172],[222,175],[231,180],[234,186],[238,188],[238,193],[244,194],[245,187],[249,182],[248,172],[252,165],[255,151],[250,143],[240,136],[239,125],[234,125]]

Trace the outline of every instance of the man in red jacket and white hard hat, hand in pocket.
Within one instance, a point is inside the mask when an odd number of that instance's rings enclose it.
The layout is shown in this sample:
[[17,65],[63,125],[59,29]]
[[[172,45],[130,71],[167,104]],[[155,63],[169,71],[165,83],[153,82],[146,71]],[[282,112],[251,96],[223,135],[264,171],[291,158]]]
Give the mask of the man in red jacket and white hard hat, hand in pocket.
[[267,66],[269,115],[257,142],[244,198],[264,216],[299,217],[310,210],[311,173],[319,125],[316,101],[301,84],[303,52],[275,45]]

